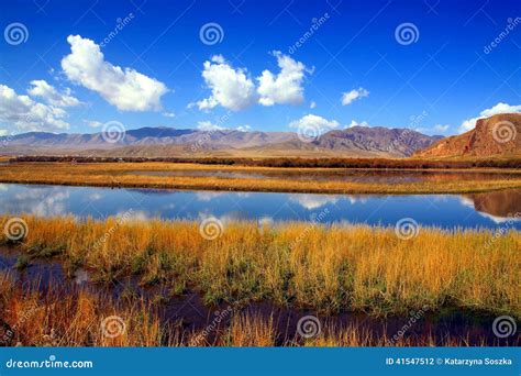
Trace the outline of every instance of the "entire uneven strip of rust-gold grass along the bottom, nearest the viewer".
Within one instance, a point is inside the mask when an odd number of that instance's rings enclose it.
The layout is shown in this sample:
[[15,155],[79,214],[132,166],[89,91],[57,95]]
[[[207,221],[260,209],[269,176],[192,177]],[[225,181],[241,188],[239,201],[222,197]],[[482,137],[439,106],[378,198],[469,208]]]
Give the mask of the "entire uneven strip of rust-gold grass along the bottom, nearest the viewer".
[[[64,292],[63,287],[37,284],[22,288],[10,274],[0,273],[2,345],[10,346],[468,346],[465,338],[431,333],[392,342],[355,325],[324,328],[311,339],[278,338],[273,316],[234,313],[230,323],[215,330],[212,342],[200,334],[162,323],[157,306],[142,298],[113,299],[85,289]],[[103,322],[118,317],[119,327],[103,330]],[[7,329],[9,325],[9,329]],[[110,336],[107,333],[111,334]],[[485,342],[479,345],[485,345]]]

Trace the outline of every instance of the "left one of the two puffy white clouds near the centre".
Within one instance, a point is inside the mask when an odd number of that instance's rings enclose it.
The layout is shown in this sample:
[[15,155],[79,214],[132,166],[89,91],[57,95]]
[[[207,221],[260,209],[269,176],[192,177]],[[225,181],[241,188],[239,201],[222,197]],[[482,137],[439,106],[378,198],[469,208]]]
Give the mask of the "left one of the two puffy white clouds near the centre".
[[253,104],[256,100],[255,84],[246,76],[246,69],[234,69],[222,55],[215,55],[210,62],[204,62],[202,78],[212,90],[197,106],[200,110],[209,110],[218,104],[240,111]]

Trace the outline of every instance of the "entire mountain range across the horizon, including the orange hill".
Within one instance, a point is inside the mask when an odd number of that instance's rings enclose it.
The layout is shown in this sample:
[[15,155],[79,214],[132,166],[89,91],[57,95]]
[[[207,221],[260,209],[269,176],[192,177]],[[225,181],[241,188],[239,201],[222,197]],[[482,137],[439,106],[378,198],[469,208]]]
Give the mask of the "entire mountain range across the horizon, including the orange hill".
[[315,139],[295,132],[243,132],[141,128],[107,135],[29,132],[0,137],[5,155],[112,157],[487,157],[519,156],[521,113],[496,114],[455,136],[430,136],[410,129],[352,126]]

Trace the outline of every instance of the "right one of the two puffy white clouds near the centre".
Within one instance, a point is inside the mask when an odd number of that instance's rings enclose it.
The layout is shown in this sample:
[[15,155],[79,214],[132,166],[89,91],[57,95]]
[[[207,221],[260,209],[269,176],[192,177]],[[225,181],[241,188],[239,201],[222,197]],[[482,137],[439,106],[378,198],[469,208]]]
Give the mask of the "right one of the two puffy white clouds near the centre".
[[273,54],[277,57],[280,73],[274,75],[266,69],[257,77],[257,92],[260,96],[258,102],[263,106],[302,103],[306,66],[280,51],[274,51]]

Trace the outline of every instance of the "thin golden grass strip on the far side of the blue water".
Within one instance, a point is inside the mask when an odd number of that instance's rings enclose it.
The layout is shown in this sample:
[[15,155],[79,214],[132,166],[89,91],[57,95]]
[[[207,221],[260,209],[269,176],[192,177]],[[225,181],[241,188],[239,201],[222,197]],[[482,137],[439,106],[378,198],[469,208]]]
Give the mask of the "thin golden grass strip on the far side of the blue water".
[[[136,175],[135,170],[171,172],[251,172],[269,173],[264,179],[219,178],[189,176]],[[426,178],[410,184],[355,183],[339,180],[296,180],[291,174],[341,173],[342,169],[273,168],[240,166],[201,166],[167,163],[22,163],[0,166],[0,181],[23,184],[53,184],[107,187],[148,187],[175,189],[207,189],[237,191],[285,191],[328,193],[464,193],[496,189],[521,188],[521,174],[514,169],[469,169],[472,173],[494,173],[494,179],[436,179]],[[452,170],[455,172],[455,170]]]

